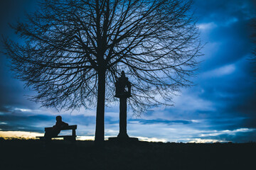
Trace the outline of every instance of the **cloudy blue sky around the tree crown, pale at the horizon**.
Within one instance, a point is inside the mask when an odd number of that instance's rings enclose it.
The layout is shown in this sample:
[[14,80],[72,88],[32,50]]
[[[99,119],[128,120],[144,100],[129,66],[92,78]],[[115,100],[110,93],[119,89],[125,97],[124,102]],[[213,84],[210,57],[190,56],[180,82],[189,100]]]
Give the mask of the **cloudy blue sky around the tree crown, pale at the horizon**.
[[[1,0],[0,34],[16,40],[8,23],[23,21],[34,0]],[[204,45],[194,86],[174,96],[174,107],[160,106],[140,117],[128,108],[127,132],[139,140],[161,142],[256,142],[255,65],[250,62],[256,3],[252,0],[195,0]],[[0,42],[0,49],[2,44]],[[78,140],[92,140],[95,109],[56,111],[29,101],[33,91],[14,79],[9,59],[0,53],[0,136],[35,137],[55,124],[55,116],[78,125]],[[119,108],[105,110],[105,137],[119,132]]]

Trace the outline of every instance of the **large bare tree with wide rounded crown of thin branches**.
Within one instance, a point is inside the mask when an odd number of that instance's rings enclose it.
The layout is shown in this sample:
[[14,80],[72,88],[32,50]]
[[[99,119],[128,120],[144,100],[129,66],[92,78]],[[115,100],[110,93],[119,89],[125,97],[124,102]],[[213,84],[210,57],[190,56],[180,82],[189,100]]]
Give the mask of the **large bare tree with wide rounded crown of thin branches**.
[[[24,43],[4,38],[16,77],[38,91],[46,107],[97,105],[95,141],[104,141],[105,101],[114,101],[122,70],[132,82],[129,106],[142,113],[171,105],[190,86],[200,55],[192,1],[45,0],[12,28]],[[97,103],[97,104],[96,104]]]

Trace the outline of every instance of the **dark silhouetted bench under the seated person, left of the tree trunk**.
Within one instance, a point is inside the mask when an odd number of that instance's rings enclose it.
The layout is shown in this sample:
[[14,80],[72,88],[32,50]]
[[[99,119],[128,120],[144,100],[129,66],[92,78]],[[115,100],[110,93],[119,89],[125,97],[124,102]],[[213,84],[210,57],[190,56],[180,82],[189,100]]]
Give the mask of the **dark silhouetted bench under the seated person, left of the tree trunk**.
[[[78,127],[78,125],[68,125],[65,128],[61,128],[60,131],[61,130],[72,130],[72,135],[52,136],[52,137],[50,137],[50,140],[51,140],[51,138],[63,137],[63,140],[69,140],[71,142],[75,142],[75,137],[76,137],[75,130],[77,129],[77,127]],[[45,131],[51,130],[51,129],[53,129],[53,127],[45,128]],[[46,137],[37,137],[37,138],[39,138],[40,140],[45,140]]]

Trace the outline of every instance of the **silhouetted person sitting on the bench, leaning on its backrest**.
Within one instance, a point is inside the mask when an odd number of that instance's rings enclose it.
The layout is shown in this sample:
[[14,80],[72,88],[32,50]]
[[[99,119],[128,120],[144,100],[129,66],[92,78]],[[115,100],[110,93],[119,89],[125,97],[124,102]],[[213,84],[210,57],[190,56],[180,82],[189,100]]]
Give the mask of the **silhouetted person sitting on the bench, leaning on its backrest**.
[[56,116],[56,123],[53,128],[47,130],[45,133],[46,140],[50,140],[50,137],[58,136],[60,130],[68,126],[68,123],[63,122],[60,115]]

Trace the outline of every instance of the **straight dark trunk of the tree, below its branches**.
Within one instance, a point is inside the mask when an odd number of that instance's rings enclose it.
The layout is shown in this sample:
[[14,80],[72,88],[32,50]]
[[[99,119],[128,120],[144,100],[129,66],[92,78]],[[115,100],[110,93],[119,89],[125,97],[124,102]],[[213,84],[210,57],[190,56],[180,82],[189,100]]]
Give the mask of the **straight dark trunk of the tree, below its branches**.
[[105,136],[105,71],[99,71],[99,81],[97,89],[97,111],[96,111],[96,130],[95,130],[95,144],[102,145]]

